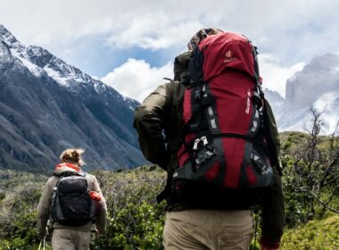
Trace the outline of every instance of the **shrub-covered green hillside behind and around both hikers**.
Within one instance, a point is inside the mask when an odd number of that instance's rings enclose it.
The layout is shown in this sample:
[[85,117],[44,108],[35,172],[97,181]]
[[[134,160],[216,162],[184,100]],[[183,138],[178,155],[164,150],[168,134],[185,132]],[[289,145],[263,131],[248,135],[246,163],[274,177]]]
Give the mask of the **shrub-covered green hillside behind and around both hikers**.
[[[338,138],[281,134],[286,229],[281,249],[339,249]],[[161,249],[166,182],[157,166],[92,172],[109,209],[107,234],[91,249]],[[48,176],[0,170],[0,249],[37,249],[36,208]],[[49,238],[47,238],[48,243]]]

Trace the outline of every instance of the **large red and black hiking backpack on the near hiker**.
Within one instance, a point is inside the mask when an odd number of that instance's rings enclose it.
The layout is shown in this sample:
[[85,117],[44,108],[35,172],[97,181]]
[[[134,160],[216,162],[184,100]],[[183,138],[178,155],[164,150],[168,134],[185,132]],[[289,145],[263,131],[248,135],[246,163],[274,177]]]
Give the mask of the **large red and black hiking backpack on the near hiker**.
[[233,32],[206,37],[180,81],[186,86],[185,127],[174,192],[182,180],[227,190],[269,187],[273,171],[256,47]]

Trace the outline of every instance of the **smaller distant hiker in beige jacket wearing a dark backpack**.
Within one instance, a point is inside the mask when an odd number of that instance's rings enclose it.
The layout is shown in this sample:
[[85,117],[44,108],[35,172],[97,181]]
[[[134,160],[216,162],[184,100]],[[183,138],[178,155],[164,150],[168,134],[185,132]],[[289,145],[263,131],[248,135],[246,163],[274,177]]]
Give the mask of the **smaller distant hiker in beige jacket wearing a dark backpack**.
[[54,250],[89,249],[91,231],[102,235],[106,229],[105,199],[95,176],[81,170],[83,153],[72,148],[62,152],[37,206],[38,233],[45,237],[51,220]]

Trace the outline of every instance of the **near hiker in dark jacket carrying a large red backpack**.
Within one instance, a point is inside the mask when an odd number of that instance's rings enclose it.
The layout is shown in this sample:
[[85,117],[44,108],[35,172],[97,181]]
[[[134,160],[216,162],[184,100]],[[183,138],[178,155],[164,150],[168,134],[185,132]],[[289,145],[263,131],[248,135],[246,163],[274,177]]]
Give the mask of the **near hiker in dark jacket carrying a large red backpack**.
[[174,79],[136,108],[145,158],[168,172],[165,249],[260,249],[285,225],[280,142],[261,90],[257,50],[234,32],[201,29],[176,57]]

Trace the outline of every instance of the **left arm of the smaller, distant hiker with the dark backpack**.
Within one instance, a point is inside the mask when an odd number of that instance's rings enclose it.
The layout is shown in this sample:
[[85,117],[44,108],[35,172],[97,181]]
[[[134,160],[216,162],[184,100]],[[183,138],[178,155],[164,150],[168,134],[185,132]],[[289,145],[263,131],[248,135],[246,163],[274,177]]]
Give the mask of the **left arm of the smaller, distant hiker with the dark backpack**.
[[43,194],[37,204],[37,232],[40,237],[45,237],[47,221],[49,218],[50,204],[53,195],[51,180],[48,179],[43,187]]

